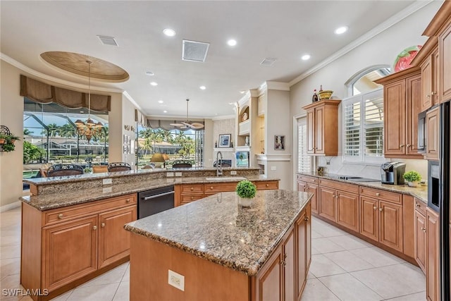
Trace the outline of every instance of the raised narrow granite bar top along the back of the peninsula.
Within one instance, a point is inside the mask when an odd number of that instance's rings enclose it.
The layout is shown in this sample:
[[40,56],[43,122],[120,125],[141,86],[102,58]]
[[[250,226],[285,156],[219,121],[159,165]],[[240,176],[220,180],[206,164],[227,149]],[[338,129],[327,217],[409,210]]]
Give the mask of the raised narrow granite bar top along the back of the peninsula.
[[[258,171],[260,168],[257,167],[224,167],[223,171]],[[140,176],[144,174],[158,174],[158,173],[175,173],[175,172],[199,172],[199,171],[216,171],[216,168],[177,168],[177,169],[139,169],[137,171],[115,171],[111,173],[83,173],[82,175],[76,176],[58,176],[53,178],[25,178],[23,183],[31,185],[50,185],[56,183],[73,183],[85,180],[101,180],[105,178],[119,178],[123,176]],[[171,177],[178,178],[178,177]]]

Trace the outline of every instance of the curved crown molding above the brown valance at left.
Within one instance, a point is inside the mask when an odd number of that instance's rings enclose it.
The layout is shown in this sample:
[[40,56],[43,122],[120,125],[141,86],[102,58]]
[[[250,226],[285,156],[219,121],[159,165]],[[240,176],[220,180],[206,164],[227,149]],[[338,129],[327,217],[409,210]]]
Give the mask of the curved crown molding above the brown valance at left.
[[[75,87],[75,88],[82,89],[82,90],[89,89],[88,85],[85,85],[85,84],[79,84],[77,82],[70,82],[69,80],[63,80],[61,78],[55,78],[54,76],[40,73],[37,70],[34,70],[32,68],[25,66],[23,63],[19,63],[15,59],[12,59],[11,57],[7,56],[6,54],[4,54],[2,52],[0,53],[0,59],[2,61],[6,61],[6,63],[9,63],[9,64],[13,65],[14,67],[16,67],[20,70],[23,70],[24,72],[29,73],[30,75],[33,75],[37,78],[40,78],[43,80],[49,80],[49,81],[57,83],[57,84],[66,85],[69,87]],[[124,92],[121,89],[97,87],[97,86],[93,86],[93,85],[91,85],[91,90],[95,90],[95,91],[99,91],[99,92],[121,93],[121,94]]]

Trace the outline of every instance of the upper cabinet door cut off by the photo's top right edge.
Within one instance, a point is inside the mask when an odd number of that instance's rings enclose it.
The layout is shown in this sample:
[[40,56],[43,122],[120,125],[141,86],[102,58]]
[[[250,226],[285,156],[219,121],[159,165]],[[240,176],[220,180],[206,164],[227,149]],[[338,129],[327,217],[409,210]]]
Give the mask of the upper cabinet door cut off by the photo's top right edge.
[[440,102],[451,99],[451,25],[438,37]]

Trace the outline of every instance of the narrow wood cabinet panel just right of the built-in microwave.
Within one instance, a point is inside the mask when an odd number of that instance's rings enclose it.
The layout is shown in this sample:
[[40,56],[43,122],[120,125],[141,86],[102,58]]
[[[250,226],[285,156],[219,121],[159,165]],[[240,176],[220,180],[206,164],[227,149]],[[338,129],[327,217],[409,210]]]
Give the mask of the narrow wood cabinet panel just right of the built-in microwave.
[[440,159],[440,108],[426,113],[426,159],[438,161]]

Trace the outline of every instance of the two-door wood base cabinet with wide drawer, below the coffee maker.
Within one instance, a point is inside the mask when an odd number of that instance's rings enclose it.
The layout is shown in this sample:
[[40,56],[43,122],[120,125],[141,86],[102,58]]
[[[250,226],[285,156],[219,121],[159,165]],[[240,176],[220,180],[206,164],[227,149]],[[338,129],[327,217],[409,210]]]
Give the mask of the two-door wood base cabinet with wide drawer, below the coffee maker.
[[361,187],[360,233],[403,252],[402,196]]

